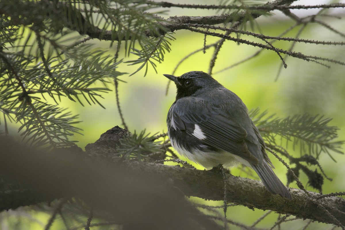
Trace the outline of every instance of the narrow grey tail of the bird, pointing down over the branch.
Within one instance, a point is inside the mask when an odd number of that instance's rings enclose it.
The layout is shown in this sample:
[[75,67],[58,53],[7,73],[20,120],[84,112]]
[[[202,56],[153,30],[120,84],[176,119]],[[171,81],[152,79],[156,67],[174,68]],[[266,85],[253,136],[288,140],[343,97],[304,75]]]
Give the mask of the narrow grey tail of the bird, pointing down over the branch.
[[270,193],[279,194],[280,196],[286,197],[289,200],[292,199],[290,192],[284,186],[282,181],[279,180],[266,161],[257,165],[252,165],[252,167],[259,175],[260,179]]

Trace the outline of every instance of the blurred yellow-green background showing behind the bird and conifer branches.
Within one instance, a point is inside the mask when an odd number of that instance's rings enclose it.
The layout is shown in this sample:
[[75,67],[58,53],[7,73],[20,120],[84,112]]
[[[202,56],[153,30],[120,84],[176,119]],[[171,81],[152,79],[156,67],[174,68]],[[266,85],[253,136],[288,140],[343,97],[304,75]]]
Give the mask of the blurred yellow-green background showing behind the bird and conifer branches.
[[[202,4],[202,2],[199,3]],[[209,1],[204,1],[204,3],[210,4]],[[214,12],[188,9],[177,11],[172,9],[169,16],[201,16],[212,13]],[[345,23],[342,20],[328,20],[334,28],[339,30],[345,28]],[[286,28],[293,25],[293,22],[285,16],[279,15],[274,16],[274,20],[272,17],[261,17],[257,21],[262,33],[269,36],[278,36]],[[290,31],[284,37],[294,37],[298,29],[299,27]],[[255,32],[258,32],[258,30]],[[146,77],[143,77],[144,70],[130,77],[129,74],[119,77],[120,80],[127,82],[119,82],[119,99],[130,132],[143,129],[151,133],[167,131],[166,115],[175,100],[176,88],[171,84],[166,96],[168,80],[162,74],[171,74],[182,58],[194,50],[202,48],[204,42],[203,35],[189,31],[177,31],[174,37],[176,40],[171,42],[171,52],[166,53],[164,62],[157,66],[158,73],[149,68]],[[340,41],[343,39],[341,36],[316,24],[307,26],[300,37],[327,41]],[[248,39],[246,36],[242,36],[242,38]],[[208,36],[206,44],[213,43],[216,40],[218,39]],[[96,40],[90,42],[95,43],[95,46],[109,49],[111,55],[115,53],[115,47],[109,48],[110,42]],[[274,45],[279,48],[289,48],[287,42],[276,42]],[[179,66],[175,75],[180,76],[185,72],[195,70],[207,72],[213,50],[213,48],[207,50],[206,54],[202,52],[194,54]],[[344,47],[297,43],[294,50],[306,55],[323,56],[339,61],[345,59]],[[218,72],[251,56],[256,51],[258,51],[258,48],[245,44],[238,45],[231,41],[225,42],[216,60],[213,77],[242,98],[248,109],[259,107],[261,111],[268,110],[269,114],[276,113],[281,118],[305,112],[312,115],[323,114],[326,117],[331,117],[333,118],[331,125],[340,129],[339,140],[345,140],[345,67],[331,64],[332,68],[328,69],[316,63],[288,57],[286,60],[287,69],[283,68],[277,78],[282,61],[275,52],[265,50],[249,61],[226,71]],[[124,55],[125,51],[121,50],[120,57],[124,57]],[[125,58],[125,60],[132,59],[135,59],[135,56]],[[122,63],[117,71],[132,73],[137,68],[138,66],[128,66]],[[114,89],[114,86],[110,84],[109,87]],[[101,103],[106,109],[98,105],[90,106],[86,103],[83,107],[79,103],[68,99],[62,101],[63,107],[69,108],[73,113],[80,114],[80,120],[83,121],[78,125],[83,129],[83,135],[76,134],[72,137],[73,140],[79,141],[78,146],[81,148],[84,148],[88,143],[95,142],[108,129],[117,125],[121,126],[115,93],[106,93],[103,97],[104,100]],[[15,135],[16,132],[16,128],[13,128],[10,134]],[[289,151],[294,152],[295,156],[299,156],[298,148],[296,149],[295,151],[289,149]],[[334,162],[327,154],[321,154],[319,159],[327,176],[333,178],[333,181],[325,180],[323,193],[345,190],[343,176],[345,174],[345,156],[338,153],[333,153],[332,156],[337,162]],[[270,155],[270,159],[276,167],[275,172],[278,177],[285,183],[285,167],[272,155]],[[231,173],[246,176],[243,171],[237,168],[232,169]],[[303,173],[300,175],[300,180],[305,185],[307,184],[307,178]],[[296,185],[290,184],[290,186],[296,188]],[[310,187],[307,187],[307,189],[312,190]],[[193,199],[200,200],[198,198]],[[215,205],[222,204],[223,201],[215,202]],[[234,219],[246,216],[245,219],[256,220],[263,214],[263,211],[257,210],[256,212],[249,212],[248,215],[247,208],[243,207],[231,207],[230,210],[228,217]],[[272,226],[272,222],[269,221],[269,219],[263,221],[262,225],[267,226],[265,224],[270,224],[268,226]],[[303,226],[302,221],[301,226]],[[319,225],[318,228],[323,229],[323,226]],[[298,229],[298,224],[295,227]]]

